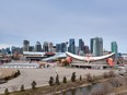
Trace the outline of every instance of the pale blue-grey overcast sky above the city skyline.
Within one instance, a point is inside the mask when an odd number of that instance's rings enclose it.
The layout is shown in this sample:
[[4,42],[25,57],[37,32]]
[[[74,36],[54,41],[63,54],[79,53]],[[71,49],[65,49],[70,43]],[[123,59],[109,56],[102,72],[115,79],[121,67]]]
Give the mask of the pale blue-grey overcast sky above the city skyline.
[[127,52],[127,0],[0,0],[0,48],[96,36]]

